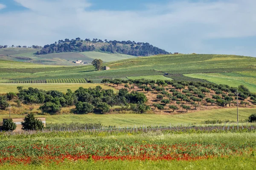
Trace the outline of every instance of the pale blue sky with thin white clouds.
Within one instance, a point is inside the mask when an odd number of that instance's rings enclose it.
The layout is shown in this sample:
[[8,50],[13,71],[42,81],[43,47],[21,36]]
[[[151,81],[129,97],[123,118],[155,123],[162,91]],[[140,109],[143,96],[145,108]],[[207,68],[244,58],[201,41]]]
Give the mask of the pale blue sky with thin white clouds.
[[256,57],[256,0],[0,0],[0,45],[65,38]]

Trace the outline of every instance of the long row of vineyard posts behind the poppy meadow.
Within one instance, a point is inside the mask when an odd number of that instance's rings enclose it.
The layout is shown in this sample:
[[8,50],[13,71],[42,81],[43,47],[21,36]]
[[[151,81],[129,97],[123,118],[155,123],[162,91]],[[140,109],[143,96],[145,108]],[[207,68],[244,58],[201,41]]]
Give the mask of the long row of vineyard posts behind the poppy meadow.
[[224,124],[224,125],[157,125],[157,126],[146,126],[146,125],[134,125],[133,127],[59,127],[59,128],[50,128],[50,129],[42,129],[42,130],[21,130],[21,131],[7,131],[2,133],[7,133],[9,135],[17,135],[17,134],[35,134],[35,133],[50,133],[50,132],[76,132],[76,131],[84,131],[88,133],[101,133],[101,132],[123,132],[123,133],[147,133],[147,132],[155,132],[162,131],[166,133],[218,133],[218,132],[256,132],[256,124],[246,124],[235,126],[234,124]]

